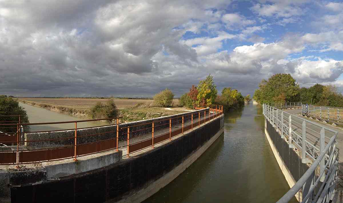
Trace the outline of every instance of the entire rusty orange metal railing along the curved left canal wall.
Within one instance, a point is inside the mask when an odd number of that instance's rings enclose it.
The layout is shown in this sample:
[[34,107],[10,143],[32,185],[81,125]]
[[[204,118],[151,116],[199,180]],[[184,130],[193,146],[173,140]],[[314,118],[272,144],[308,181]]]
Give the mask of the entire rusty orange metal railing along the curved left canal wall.
[[[204,109],[204,107],[201,107],[201,109]],[[171,117],[165,120],[158,120],[156,122],[143,123],[121,128],[119,128],[119,125],[121,124],[119,123],[119,119],[122,117],[46,123],[0,123],[0,128],[16,128],[16,132],[12,132],[11,136],[6,135],[7,137],[5,137],[4,134],[0,134],[0,143],[5,143],[9,145],[9,147],[0,147],[0,165],[16,165],[16,167],[19,168],[20,164],[56,161],[69,158],[73,158],[75,161],[77,161],[78,157],[81,156],[101,153],[113,149],[116,149],[118,151],[119,149],[122,149],[124,147],[127,147],[127,154],[125,156],[129,156],[130,154],[145,149],[147,147],[154,148],[156,144],[162,143],[165,140],[171,140],[171,138],[183,134],[189,130],[192,130],[194,127],[206,123],[212,119],[215,119],[221,114],[223,114],[223,107],[221,105],[213,105],[209,106],[209,108],[206,108],[203,112],[191,112],[185,115],[176,115],[175,117]],[[81,130],[94,127],[78,127],[78,123],[81,122],[104,120],[115,121],[114,124],[96,126],[96,128],[109,126],[109,129],[105,129],[105,132],[94,133],[93,131],[89,131],[91,133],[85,132],[85,134],[83,134],[83,131]],[[74,123],[74,127],[51,131],[26,132],[23,132],[20,128],[20,126],[25,127],[35,125],[58,125],[68,123]],[[173,130],[173,127],[176,127],[177,129]],[[123,132],[124,130],[125,132]],[[144,137],[146,136],[146,134],[144,134],[144,136],[142,137],[134,137],[133,140],[137,140],[139,138],[143,139],[140,139],[137,142],[130,142],[130,135],[135,133],[137,134],[139,131],[145,132],[150,130],[151,137],[146,138]],[[24,133],[26,135],[43,133],[39,135],[39,137],[43,137],[44,133],[49,134],[59,132],[64,133],[64,136],[40,139],[20,139],[20,137]],[[121,136],[120,138],[126,138],[126,145],[119,146],[119,132]],[[40,148],[37,149],[35,144],[39,145]],[[19,148],[21,145],[25,146],[26,148]],[[16,150],[13,150],[15,146]]]

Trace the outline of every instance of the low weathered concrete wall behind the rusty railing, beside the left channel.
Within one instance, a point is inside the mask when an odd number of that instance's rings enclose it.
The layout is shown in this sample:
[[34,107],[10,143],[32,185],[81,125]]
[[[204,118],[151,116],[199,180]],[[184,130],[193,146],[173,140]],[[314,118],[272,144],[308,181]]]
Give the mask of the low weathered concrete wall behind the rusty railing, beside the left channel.
[[[141,125],[144,123],[155,123],[155,132],[164,128],[169,128],[169,119],[178,117],[178,116],[184,116],[184,122],[188,122],[191,120],[191,117],[189,115],[198,114],[200,112],[201,118],[204,117],[204,111],[202,110],[196,110],[192,112],[186,112],[186,113],[180,113],[176,115],[170,115],[170,116],[163,116],[158,117],[154,119],[146,119],[141,121],[134,121],[129,123],[123,123],[119,124],[119,131],[118,131],[118,137],[119,140],[126,140],[127,137],[127,126],[135,126],[130,127],[130,131],[133,133],[130,133],[130,137],[137,137],[140,135],[144,135],[146,133],[151,133],[151,124]],[[208,111],[208,109],[206,110]],[[206,117],[208,116],[206,112]],[[198,116],[195,116],[193,118],[194,121],[198,120]],[[179,117],[177,119],[173,119],[173,126],[178,125],[182,123],[182,117]],[[166,125],[163,125],[166,124]],[[105,124],[104,124],[105,125]],[[124,128],[124,129],[121,129]],[[145,129],[146,128],[146,129]],[[144,129],[138,132],[134,132],[140,129]],[[84,135],[92,135],[92,134],[99,134],[95,136],[86,136],[86,137],[78,137],[78,144],[85,144],[90,142],[96,142],[101,140],[106,140],[110,138],[114,138],[117,136],[117,127],[114,125],[111,126],[103,126],[103,127],[92,127],[92,128],[84,128],[84,129],[78,129],[77,135],[78,136],[84,136]],[[50,140],[50,141],[42,141],[42,142],[26,142],[26,146],[30,147],[56,147],[56,146],[68,146],[68,145],[74,145],[74,133],[75,130],[69,130],[69,131],[59,131],[59,132],[45,132],[45,133],[25,133],[25,141],[33,141],[33,140],[46,140],[46,139],[55,139],[55,138],[68,138],[69,139],[59,139],[59,140]]]

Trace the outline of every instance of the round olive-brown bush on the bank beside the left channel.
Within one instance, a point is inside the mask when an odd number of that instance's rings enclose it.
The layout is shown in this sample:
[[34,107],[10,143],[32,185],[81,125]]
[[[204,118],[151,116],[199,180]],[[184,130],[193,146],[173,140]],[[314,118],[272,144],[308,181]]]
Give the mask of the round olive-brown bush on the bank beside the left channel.
[[107,101],[106,104],[97,102],[89,111],[88,116],[92,119],[107,119],[118,117],[118,109],[114,100]]

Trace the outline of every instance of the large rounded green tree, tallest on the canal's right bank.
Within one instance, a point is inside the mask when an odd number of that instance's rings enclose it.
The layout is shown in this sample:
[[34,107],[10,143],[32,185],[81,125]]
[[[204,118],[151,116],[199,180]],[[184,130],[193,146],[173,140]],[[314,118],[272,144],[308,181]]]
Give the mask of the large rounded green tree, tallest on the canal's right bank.
[[299,92],[299,85],[290,74],[275,74],[267,80],[262,80],[254,98],[262,103],[275,103],[284,94],[285,101],[294,101]]

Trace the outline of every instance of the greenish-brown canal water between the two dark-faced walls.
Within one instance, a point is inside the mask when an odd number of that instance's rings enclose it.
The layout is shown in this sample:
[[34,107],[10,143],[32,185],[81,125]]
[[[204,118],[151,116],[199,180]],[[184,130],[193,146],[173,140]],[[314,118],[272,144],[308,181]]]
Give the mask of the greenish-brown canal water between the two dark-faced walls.
[[144,202],[276,202],[288,190],[264,135],[261,107],[247,104],[226,112],[224,134]]

